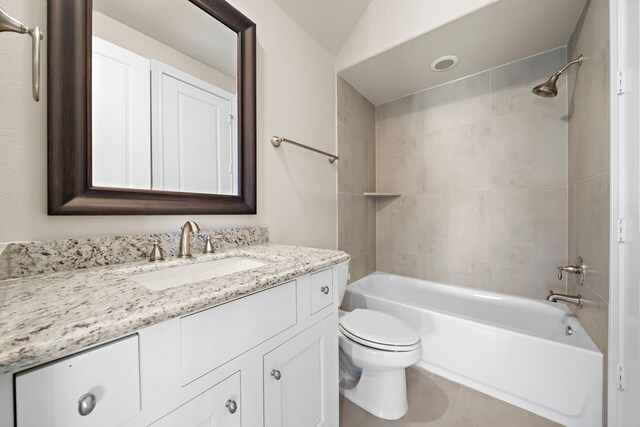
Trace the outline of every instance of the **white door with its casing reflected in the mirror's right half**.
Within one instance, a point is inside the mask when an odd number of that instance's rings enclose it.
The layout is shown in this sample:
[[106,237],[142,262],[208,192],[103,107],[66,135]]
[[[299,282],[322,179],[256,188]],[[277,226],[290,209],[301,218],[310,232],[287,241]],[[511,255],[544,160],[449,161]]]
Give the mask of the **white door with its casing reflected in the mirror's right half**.
[[235,95],[151,60],[154,190],[237,194]]

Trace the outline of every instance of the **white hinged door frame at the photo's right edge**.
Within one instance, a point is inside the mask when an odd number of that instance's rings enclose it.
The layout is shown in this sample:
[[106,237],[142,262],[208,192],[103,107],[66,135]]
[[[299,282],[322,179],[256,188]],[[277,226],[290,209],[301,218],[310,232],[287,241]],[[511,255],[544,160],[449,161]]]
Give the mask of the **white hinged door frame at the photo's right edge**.
[[[638,86],[640,55],[640,8],[637,0],[611,0],[610,22],[610,102],[611,102],[611,224],[609,261],[609,361],[608,425],[630,425],[637,418],[640,396],[640,360],[630,360],[629,349],[640,346],[638,282],[640,264],[630,262],[630,251],[637,250],[640,195],[638,182],[627,173],[638,170],[637,114],[640,110]],[[619,74],[620,72],[620,74]],[[630,120],[631,118],[631,120]],[[625,218],[625,215],[628,217]],[[620,218],[620,222],[618,219]],[[635,245],[636,248],[633,247]],[[634,300],[635,299],[635,300]],[[629,307],[631,306],[631,307]],[[633,356],[632,356],[633,357]],[[633,402],[629,405],[628,402]]]

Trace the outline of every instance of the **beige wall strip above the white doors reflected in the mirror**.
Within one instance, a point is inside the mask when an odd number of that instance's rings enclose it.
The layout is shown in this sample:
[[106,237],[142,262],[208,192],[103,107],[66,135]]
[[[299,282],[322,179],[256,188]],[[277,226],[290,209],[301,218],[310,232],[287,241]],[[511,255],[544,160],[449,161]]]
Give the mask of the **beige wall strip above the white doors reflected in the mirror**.
[[134,30],[131,27],[93,12],[93,35],[128,49],[149,59],[157,59],[172,67],[183,70],[199,79],[218,86],[228,92],[236,93],[236,80],[195,59]]

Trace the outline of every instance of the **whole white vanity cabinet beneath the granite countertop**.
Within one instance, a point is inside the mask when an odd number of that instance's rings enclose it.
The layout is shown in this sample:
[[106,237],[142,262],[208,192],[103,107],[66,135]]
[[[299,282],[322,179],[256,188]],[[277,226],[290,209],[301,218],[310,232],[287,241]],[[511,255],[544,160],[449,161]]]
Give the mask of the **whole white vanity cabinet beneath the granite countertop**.
[[340,267],[0,376],[0,427],[337,427]]

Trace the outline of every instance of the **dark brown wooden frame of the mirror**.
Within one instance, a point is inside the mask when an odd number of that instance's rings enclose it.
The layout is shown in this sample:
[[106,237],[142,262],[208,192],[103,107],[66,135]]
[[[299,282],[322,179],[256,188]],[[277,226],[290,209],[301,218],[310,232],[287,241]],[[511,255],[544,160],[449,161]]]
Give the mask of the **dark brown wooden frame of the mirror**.
[[[125,188],[109,185],[108,180],[103,181],[107,182],[106,185],[95,184],[98,179],[95,169],[98,166],[97,139],[94,140],[92,132],[96,126],[95,117],[92,121],[92,71],[95,73],[95,68],[92,70],[94,1],[49,0],[49,215],[256,213],[256,26],[224,0],[167,1],[186,2],[195,6],[197,13],[205,12],[208,15],[206,18],[218,21],[237,35],[233,38],[236,43],[236,62],[233,65],[237,89],[233,104],[235,115],[228,116],[230,122],[233,119],[236,123],[232,133],[236,132],[234,138],[237,148],[231,150],[231,158],[237,163],[234,163],[233,174],[229,172],[231,178],[225,178],[232,182],[229,187],[231,190],[220,194],[215,190],[192,190],[196,187],[174,189],[168,185],[154,187],[154,184],[148,184],[148,187],[143,185],[138,188]],[[168,20],[174,18],[170,12],[158,13],[164,13]],[[185,33],[195,32],[190,28],[189,22],[181,24]],[[193,122],[197,124],[203,121],[197,122],[194,119]],[[111,143],[108,138],[107,142]],[[156,149],[145,150],[153,153]],[[182,152],[180,153],[182,155]],[[149,158],[151,156],[152,154],[149,154]],[[105,164],[109,169],[111,164]],[[228,168],[231,171],[232,167]],[[153,174],[158,175],[155,170],[149,175]],[[148,178],[148,181],[151,182],[152,179]]]

